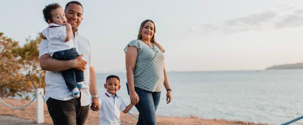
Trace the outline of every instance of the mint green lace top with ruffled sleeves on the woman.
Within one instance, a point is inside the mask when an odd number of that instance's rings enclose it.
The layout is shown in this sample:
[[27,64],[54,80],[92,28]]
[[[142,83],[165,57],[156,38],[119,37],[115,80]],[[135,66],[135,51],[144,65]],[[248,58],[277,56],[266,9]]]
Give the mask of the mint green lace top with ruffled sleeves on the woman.
[[[161,92],[164,83],[164,54],[161,49],[155,44],[154,47],[150,47],[141,40],[133,40],[124,48],[125,53],[129,46],[135,46],[138,49],[134,69],[135,87],[150,92]],[[155,59],[151,62],[154,57]]]

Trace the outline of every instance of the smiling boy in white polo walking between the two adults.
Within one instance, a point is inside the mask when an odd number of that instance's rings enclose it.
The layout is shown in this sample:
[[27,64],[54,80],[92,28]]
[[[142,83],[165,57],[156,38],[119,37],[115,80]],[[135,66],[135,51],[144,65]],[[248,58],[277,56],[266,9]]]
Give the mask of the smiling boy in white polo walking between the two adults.
[[120,125],[120,111],[128,113],[133,105],[125,105],[123,99],[116,94],[120,90],[120,79],[118,76],[111,75],[106,78],[104,88],[105,93],[99,96],[100,111],[99,123],[100,125]]

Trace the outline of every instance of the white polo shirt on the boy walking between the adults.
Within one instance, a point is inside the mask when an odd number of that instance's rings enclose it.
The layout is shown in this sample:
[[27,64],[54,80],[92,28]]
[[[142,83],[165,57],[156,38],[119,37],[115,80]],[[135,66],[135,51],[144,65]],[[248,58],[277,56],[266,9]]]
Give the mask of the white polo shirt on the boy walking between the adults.
[[99,96],[100,111],[99,111],[99,124],[100,125],[120,125],[120,111],[125,110],[126,105],[123,99],[117,95],[115,100],[114,95],[107,92]]

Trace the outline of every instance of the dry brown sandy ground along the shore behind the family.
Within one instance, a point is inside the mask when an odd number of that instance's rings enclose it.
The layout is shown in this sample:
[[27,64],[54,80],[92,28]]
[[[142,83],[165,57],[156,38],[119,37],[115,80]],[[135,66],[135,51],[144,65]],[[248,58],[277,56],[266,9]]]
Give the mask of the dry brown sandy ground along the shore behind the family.
[[[1,97],[5,103],[13,107],[23,106],[30,101],[28,100],[16,100]],[[21,109],[12,109],[6,107],[2,102],[0,103],[0,115],[10,115],[18,118],[24,118],[32,121],[36,121],[36,102],[28,105]],[[99,113],[89,111],[88,118],[86,120],[87,125],[98,125],[99,124]],[[135,114],[136,115],[136,114]],[[137,115],[136,115],[137,116]],[[121,112],[120,120],[122,125],[135,125],[137,122],[136,118],[133,118],[129,114]],[[46,103],[44,103],[44,123],[52,124],[52,118],[49,116],[47,111]],[[179,118],[179,117],[157,117],[157,125],[266,125],[257,123],[248,123],[242,121],[228,121],[224,119],[203,119],[203,118]]]

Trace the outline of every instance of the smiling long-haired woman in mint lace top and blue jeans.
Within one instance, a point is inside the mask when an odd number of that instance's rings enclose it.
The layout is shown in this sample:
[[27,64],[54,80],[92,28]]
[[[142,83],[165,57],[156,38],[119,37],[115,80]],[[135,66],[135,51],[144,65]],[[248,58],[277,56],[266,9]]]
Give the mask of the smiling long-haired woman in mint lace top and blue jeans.
[[137,125],[156,124],[156,110],[163,84],[166,88],[167,104],[172,99],[164,65],[164,50],[155,41],[155,32],[156,27],[152,20],[143,21],[138,38],[129,42],[124,49],[128,92],[131,103],[139,111]]

